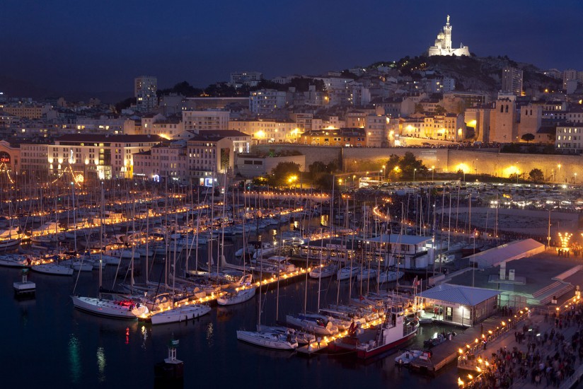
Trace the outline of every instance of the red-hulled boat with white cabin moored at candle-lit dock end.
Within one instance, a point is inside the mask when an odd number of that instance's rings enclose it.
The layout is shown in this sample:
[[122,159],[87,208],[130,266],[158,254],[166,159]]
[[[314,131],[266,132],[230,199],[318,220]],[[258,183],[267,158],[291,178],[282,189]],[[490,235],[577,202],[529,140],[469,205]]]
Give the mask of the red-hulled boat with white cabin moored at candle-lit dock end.
[[382,354],[417,335],[419,322],[407,320],[401,307],[388,308],[385,320],[376,330],[360,330],[357,325],[349,328],[348,336],[328,344],[330,352],[354,352],[359,359]]

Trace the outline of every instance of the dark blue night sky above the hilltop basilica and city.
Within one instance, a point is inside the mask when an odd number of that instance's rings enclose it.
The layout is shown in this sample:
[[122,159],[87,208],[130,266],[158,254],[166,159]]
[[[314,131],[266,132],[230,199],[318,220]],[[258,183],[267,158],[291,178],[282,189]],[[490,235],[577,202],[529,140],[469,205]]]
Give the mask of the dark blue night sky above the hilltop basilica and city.
[[141,74],[160,87],[238,70],[318,74],[420,54],[448,13],[454,45],[479,56],[583,70],[578,0],[4,0],[0,76],[129,95]]

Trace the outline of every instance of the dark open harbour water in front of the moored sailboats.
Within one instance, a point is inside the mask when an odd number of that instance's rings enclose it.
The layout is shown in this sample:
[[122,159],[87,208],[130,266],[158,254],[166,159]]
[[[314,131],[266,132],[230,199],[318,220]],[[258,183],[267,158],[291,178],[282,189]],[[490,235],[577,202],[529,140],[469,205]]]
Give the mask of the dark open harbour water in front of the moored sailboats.
[[[173,337],[180,340],[185,388],[456,387],[455,367],[426,378],[394,366],[394,353],[364,364],[352,356],[307,359],[239,342],[236,330],[257,324],[259,296],[238,306],[214,307],[193,322],[152,327],[74,310],[69,296],[76,275],[30,274],[37,294],[27,301],[13,297],[12,282],[19,279],[19,269],[0,268],[0,388],[151,388],[154,364],[166,357]],[[76,293],[94,296],[97,282],[97,272],[81,274]],[[279,289],[280,320],[304,309],[305,286],[305,281],[297,281]],[[340,301],[347,301],[347,287],[341,284]],[[316,309],[317,291],[318,281],[309,280],[308,310]],[[335,303],[335,281],[323,281],[321,291],[322,305]],[[262,323],[275,323],[276,295],[275,286],[262,294]],[[412,345],[441,329],[422,327]]]

